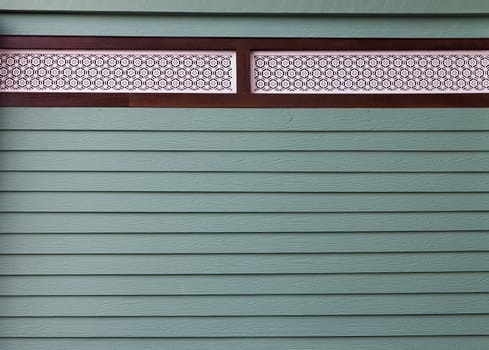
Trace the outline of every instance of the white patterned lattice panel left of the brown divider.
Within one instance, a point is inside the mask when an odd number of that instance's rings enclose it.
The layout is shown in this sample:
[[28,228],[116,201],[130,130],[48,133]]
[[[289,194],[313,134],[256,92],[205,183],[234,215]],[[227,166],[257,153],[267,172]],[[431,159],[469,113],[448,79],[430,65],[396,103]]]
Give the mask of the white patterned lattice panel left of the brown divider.
[[232,51],[0,51],[10,92],[234,93]]

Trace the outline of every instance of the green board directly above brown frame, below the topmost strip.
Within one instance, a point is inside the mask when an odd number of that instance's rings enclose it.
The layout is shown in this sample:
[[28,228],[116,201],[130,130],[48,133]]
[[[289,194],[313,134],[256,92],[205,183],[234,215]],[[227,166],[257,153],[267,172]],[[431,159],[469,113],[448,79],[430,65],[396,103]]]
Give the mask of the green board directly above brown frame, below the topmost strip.
[[[258,4],[253,3],[253,6]],[[4,35],[275,38],[487,38],[487,17],[2,13]]]

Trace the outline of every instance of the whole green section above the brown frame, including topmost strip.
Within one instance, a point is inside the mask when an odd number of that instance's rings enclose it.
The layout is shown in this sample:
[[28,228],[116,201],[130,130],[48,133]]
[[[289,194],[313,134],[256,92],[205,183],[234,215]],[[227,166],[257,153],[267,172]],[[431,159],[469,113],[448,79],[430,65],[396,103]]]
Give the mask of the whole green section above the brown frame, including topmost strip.
[[0,0],[0,35],[489,37],[486,0]]

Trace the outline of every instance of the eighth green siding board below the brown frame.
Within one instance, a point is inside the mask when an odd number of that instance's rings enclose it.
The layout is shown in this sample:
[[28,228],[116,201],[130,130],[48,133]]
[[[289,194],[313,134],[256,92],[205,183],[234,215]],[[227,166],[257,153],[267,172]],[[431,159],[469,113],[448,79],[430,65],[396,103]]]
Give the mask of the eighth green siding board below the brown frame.
[[483,272],[488,252],[1,255],[1,275]]

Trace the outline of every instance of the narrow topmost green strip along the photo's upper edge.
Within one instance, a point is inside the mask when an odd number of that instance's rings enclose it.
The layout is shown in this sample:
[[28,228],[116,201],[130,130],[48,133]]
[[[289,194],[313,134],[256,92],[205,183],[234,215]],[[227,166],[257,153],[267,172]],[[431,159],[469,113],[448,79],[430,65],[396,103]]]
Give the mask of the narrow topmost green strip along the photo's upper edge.
[[5,11],[185,14],[460,15],[488,14],[485,0],[1,0]]

